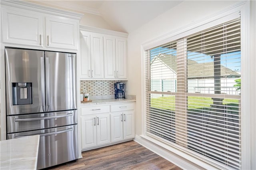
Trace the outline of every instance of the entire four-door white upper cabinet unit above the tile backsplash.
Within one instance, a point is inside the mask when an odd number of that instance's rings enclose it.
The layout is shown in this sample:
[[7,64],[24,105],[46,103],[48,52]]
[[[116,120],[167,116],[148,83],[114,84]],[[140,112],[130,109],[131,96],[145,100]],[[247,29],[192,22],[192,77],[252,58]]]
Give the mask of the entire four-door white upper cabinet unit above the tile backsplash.
[[127,34],[80,26],[80,79],[126,80]]

